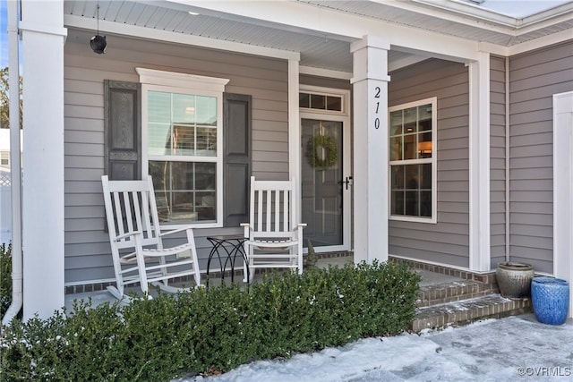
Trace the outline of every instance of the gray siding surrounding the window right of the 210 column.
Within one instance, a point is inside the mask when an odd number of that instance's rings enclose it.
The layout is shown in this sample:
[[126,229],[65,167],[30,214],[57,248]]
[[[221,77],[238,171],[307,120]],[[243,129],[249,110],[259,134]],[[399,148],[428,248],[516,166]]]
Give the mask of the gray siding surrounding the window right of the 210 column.
[[389,106],[438,98],[438,223],[389,221],[389,253],[457,267],[469,265],[467,68],[428,60],[390,73]]

